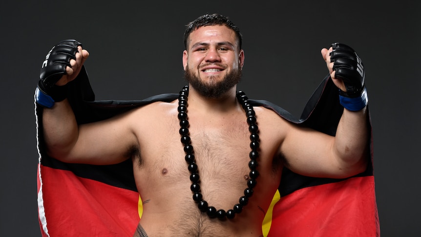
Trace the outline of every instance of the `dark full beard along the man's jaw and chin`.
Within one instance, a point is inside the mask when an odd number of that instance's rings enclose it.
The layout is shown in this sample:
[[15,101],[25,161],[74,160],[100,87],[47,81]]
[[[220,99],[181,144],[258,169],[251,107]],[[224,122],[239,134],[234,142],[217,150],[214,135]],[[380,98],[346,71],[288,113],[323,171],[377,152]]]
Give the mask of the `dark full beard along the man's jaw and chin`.
[[225,75],[224,79],[218,83],[205,83],[189,69],[189,66],[186,67],[186,71],[184,72],[184,78],[195,90],[205,97],[215,99],[220,98],[232,86],[237,85],[241,80],[241,76],[242,70],[238,68]]

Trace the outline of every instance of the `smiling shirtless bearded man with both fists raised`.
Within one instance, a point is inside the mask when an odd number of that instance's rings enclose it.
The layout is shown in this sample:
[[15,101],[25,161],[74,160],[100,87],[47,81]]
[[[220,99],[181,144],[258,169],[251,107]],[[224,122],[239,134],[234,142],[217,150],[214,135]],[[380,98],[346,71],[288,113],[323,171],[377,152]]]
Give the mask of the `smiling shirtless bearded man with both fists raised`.
[[[342,68],[334,70],[334,62],[337,66],[347,61],[335,61],[333,55],[346,57],[346,50],[340,50],[348,49],[346,45],[321,50],[345,107],[334,137],[292,124],[267,108],[243,108],[241,97],[236,97],[245,57],[241,34],[223,16],[205,15],[187,26],[183,66],[189,88],[179,100],[155,102],[90,124],[76,123],[58,87],[75,79],[89,55],[72,43],[77,50],[68,58],[65,75],[56,83],[45,75],[39,84],[38,103],[46,107],[42,123],[47,152],[69,163],[105,165],[131,159],[144,200],[136,237],[262,236],[262,221],[284,166],[332,178],[366,169],[363,75],[350,69],[341,72],[348,78],[335,77]],[[331,54],[335,47],[340,47],[337,54]],[[56,86],[48,86],[51,81]],[[42,102],[47,94],[54,94],[49,105]],[[249,165],[251,160],[257,168]]]

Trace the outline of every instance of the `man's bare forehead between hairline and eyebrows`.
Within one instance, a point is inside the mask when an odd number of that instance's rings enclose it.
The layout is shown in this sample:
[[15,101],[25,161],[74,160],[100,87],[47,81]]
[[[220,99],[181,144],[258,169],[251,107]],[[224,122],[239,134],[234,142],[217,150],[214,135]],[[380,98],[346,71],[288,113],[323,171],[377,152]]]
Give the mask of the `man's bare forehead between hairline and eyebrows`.
[[218,42],[230,42],[238,46],[235,32],[225,25],[202,26],[192,31],[189,35],[189,45]]

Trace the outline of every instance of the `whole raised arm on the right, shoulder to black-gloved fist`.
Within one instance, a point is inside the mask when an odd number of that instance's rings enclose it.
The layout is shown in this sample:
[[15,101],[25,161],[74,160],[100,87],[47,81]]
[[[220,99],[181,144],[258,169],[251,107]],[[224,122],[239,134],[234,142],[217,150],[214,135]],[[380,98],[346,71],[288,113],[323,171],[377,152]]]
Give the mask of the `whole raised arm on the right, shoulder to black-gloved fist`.
[[355,51],[341,43],[322,49],[321,54],[344,107],[336,135],[291,125],[280,151],[294,172],[316,177],[349,177],[363,172],[368,161],[364,68]]

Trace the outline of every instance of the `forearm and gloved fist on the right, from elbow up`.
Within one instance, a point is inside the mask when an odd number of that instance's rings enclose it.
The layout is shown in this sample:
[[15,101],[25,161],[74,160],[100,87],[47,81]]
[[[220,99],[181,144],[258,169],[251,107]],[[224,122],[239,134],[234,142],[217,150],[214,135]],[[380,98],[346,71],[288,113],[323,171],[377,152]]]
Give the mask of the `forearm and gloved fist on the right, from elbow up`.
[[367,123],[367,90],[361,59],[351,47],[334,43],[322,49],[329,73],[339,88],[339,101],[344,107],[335,136],[334,151],[338,162],[350,172],[362,172],[367,164],[369,134]]

